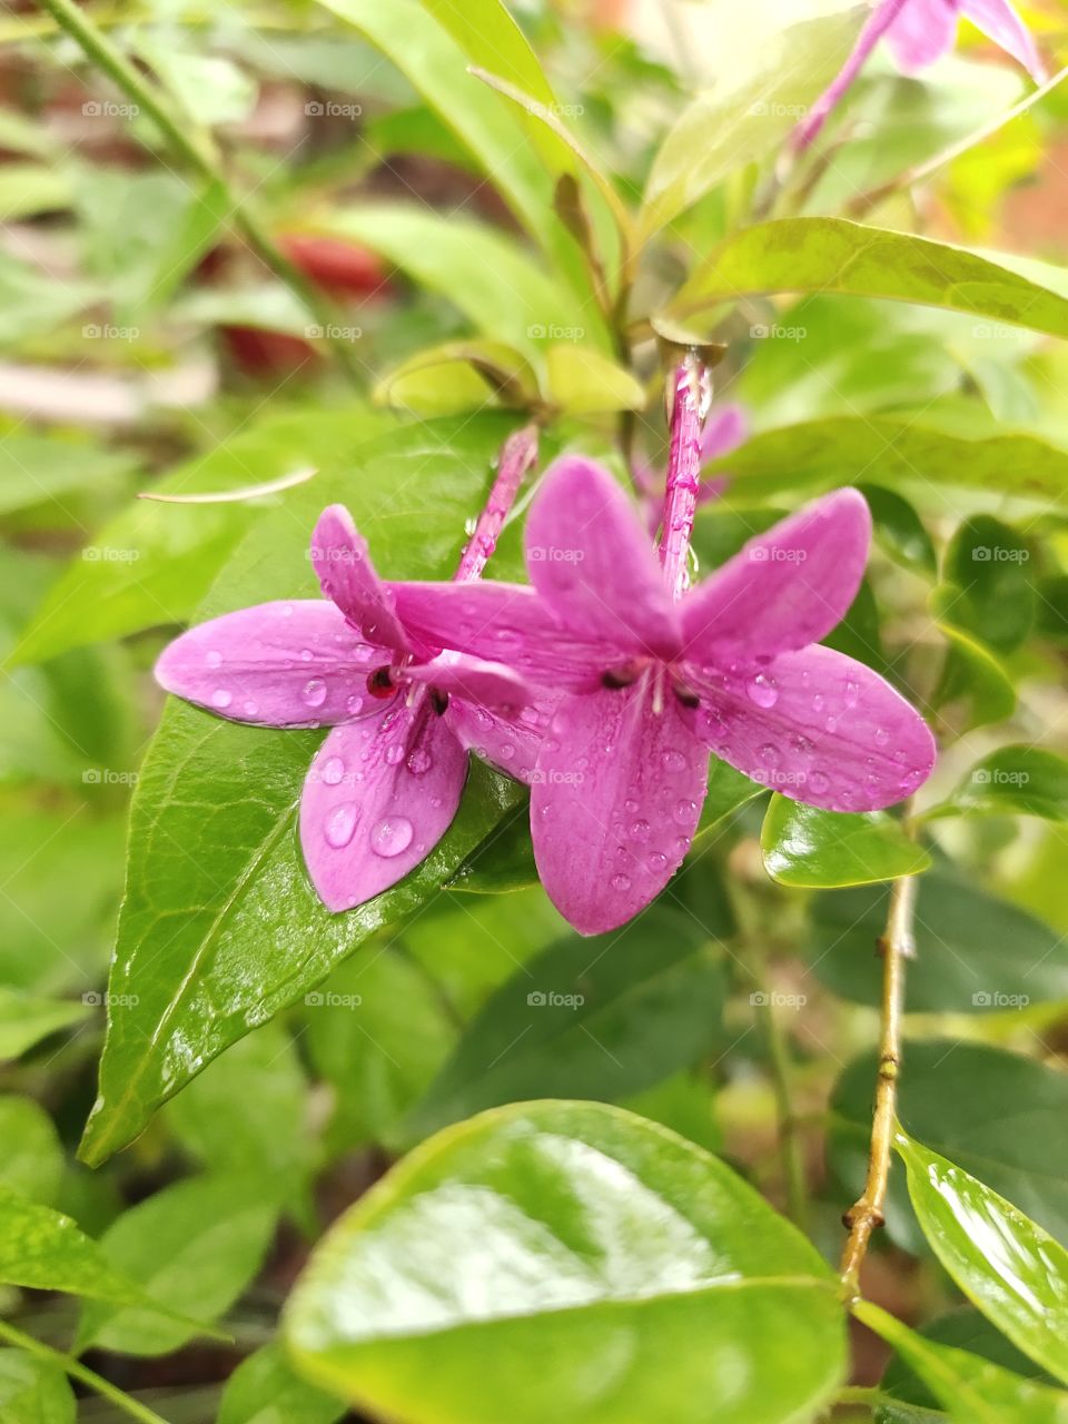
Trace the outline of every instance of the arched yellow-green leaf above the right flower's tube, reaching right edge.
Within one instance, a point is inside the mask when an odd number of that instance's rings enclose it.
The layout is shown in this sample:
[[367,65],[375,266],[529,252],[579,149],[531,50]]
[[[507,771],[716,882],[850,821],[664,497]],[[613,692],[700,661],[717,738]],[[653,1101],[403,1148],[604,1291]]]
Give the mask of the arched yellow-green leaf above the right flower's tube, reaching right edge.
[[844,218],[782,218],[736,234],[698,268],[669,313],[696,313],[745,296],[839,292],[956,312],[1068,336],[1068,299],[965,248]]

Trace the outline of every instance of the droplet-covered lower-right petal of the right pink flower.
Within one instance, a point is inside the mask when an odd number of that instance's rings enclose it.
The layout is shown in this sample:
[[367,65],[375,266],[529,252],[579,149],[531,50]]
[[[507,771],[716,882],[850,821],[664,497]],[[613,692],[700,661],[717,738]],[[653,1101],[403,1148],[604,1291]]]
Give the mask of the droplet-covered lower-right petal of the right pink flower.
[[879,674],[830,648],[783,652],[752,678],[702,674],[691,723],[731,766],[824,810],[881,810],[934,768],[920,713]]

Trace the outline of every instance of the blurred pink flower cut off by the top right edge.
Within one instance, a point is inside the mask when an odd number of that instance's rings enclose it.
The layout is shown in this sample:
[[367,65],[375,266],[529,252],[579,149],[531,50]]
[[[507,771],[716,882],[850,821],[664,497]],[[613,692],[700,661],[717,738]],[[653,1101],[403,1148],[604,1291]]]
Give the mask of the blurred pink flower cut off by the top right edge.
[[807,148],[816,138],[881,38],[901,73],[917,74],[948,54],[961,16],[1018,60],[1037,84],[1045,80],[1042,58],[1011,0],[880,0],[840,74],[795,130],[793,147]]

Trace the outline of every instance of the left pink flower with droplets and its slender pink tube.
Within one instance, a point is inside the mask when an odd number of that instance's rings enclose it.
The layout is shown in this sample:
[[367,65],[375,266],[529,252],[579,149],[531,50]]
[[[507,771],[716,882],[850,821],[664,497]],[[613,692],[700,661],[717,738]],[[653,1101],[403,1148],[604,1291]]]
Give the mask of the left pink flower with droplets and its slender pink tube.
[[[533,431],[506,446],[457,577],[481,572],[535,451]],[[315,889],[337,911],[387,890],[433,850],[460,805],[468,748],[528,779],[547,712],[528,706],[515,671],[439,652],[406,627],[343,506],[320,515],[312,561],[325,598],[259,604],[191,628],[155,676],[236,722],[333,729],[305,780],[300,843]]]

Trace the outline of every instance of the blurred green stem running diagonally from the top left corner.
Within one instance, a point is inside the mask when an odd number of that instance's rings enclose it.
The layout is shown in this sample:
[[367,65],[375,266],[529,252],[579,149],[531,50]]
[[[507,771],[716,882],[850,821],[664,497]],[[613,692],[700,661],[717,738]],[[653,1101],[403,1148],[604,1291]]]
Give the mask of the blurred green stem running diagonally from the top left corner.
[[259,261],[303,302],[310,315],[315,316],[316,326],[337,357],[339,365],[352,377],[353,383],[359,383],[359,366],[349,343],[340,336],[340,326],[332,302],[279,251],[261,219],[252,211],[248,198],[239,198],[231,189],[209,142],[204,141],[204,135],[198,141],[182,127],[144,75],[134,68],[122,51],[112,44],[74,0],[40,0],[40,4],[56,20],[60,28],[77,41],[85,57],[134,101],[137,110],[152,120],[171,150],[205,182],[212,184],[218,189],[229,212],[231,222],[244,236],[245,242]]

